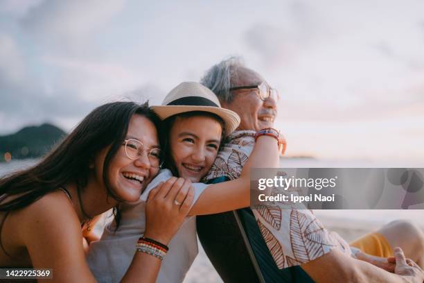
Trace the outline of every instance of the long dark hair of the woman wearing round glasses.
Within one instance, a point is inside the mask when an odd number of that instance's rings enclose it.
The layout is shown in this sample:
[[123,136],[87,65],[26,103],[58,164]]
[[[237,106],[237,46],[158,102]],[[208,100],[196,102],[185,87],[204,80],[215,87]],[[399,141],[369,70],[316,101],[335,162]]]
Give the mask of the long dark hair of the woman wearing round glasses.
[[108,196],[121,200],[109,185],[109,162],[123,143],[133,114],[143,115],[159,130],[160,119],[147,102],[139,105],[121,101],[99,106],[41,162],[0,179],[0,199],[20,195],[0,203],[0,212],[26,207],[69,182],[76,182],[79,196],[80,189],[87,185],[89,164],[106,146],[110,148],[103,163],[103,182]]

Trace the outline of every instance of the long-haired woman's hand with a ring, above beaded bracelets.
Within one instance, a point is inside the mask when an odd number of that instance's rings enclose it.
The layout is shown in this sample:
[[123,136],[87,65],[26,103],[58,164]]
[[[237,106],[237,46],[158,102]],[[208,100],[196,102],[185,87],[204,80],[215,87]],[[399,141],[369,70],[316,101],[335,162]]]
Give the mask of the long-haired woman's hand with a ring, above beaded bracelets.
[[191,181],[184,178],[172,177],[152,189],[145,207],[144,237],[167,245],[190,211],[193,198]]

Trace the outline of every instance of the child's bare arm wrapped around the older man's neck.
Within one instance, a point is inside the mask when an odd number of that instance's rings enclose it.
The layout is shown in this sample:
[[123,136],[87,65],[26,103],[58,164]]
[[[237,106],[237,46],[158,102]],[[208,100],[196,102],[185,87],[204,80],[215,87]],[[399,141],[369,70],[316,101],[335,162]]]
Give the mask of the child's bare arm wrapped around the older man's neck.
[[191,208],[189,215],[214,214],[250,205],[249,173],[254,168],[279,166],[279,148],[274,137],[258,137],[240,178],[209,185]]

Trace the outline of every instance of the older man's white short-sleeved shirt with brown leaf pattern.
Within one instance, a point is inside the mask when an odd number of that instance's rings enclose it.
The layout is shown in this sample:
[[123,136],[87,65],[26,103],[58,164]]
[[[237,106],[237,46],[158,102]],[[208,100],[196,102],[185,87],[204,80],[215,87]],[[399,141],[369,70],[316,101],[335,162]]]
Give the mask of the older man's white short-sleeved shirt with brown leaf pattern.
[[[209,173],[202,182],[222,176],[234,180],[240,177],[242,167],[254,148],[255,132],[233,132],[224,141]],[[273,191],[272,193],[277,193]],[[279,191],[279,193],[281,193]],[[260,232],[279,268],[306,264],[338,249],[351,255],[348,243],[335,232],[329,232],[312,210],[297,209],[290,203],[251,207]]]

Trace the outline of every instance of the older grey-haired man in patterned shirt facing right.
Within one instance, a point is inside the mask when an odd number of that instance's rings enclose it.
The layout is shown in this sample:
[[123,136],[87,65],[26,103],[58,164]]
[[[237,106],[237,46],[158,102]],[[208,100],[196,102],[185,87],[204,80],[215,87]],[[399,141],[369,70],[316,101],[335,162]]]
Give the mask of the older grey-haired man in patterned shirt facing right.
[[[211,67],[201,83],[218,96],[222,107],[241,118],[204,181],[233,180],[251,153],[256,131],[274,126],[279,94],[240,58]],[[416,225],[396,221],[349,247],[311,211],[279,205],[278,227],[267,212],[254,208],[197,216],[202,246],[224,282],[423,282],[421,268],[405,260],[402,250],[394,249],[401,247],[412,260],[424,263],[424,234]],[[316,237],[310,239],[300,226],[293,230],[293,217],[302,219]],[[380,252],[372,252],[375,246]]]

